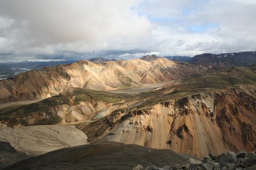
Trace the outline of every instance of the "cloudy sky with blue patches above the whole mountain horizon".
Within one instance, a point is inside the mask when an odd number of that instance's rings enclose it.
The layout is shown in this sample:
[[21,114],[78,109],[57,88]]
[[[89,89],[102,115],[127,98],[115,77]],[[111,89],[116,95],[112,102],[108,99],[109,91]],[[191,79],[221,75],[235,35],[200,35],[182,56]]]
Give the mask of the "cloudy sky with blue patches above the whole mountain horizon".
[[0,62],[256,50],[256,0],[0,0]]

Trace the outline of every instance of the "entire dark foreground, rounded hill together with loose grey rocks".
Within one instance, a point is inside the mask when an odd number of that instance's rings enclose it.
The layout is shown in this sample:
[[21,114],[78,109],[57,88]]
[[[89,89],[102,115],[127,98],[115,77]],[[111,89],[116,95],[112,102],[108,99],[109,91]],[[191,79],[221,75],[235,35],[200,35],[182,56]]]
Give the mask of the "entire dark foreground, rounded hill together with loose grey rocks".
[[[67,147],[27,158],[9,143],[0,144],[0,168],[3,169],[256,169],[256,151],[236,154],[229,151],[218,156],[209,154],[200,160],[167,149],[106,142]],[[19,162],[13,164],[15,159]],[[6,167],[8,164],[13,165]]]

